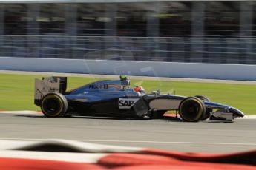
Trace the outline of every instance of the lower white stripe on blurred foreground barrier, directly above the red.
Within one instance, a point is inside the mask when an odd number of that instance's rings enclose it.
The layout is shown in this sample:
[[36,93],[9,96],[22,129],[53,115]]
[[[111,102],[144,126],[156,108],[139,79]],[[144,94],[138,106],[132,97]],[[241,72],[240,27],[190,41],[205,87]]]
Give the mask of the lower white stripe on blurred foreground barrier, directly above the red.
[[70,152],[27,152],[27,151],[3,151],[0,152],[0,157],[5,158],[22,158],[33,160],[55,160],[73,163],[97,163],[102,157],[107,154],[94,153],[70,153]]

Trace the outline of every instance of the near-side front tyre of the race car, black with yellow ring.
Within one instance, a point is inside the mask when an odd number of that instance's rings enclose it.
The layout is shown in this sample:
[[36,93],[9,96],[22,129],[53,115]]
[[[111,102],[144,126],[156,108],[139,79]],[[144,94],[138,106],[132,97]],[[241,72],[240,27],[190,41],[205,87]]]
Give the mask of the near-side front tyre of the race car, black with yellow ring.
[[196,97],[184,99],[179,106],[180,117],[187,122],[197,122],[205,117],[206,106]]

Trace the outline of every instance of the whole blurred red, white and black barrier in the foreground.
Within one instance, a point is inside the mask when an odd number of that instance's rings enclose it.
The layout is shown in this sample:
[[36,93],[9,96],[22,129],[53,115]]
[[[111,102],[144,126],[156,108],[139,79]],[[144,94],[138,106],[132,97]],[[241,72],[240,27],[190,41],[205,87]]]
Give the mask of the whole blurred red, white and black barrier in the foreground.
[[183,153],[71,140],[0,140],[0,144],[1,170],[256,169],[255,151],[232,154]]

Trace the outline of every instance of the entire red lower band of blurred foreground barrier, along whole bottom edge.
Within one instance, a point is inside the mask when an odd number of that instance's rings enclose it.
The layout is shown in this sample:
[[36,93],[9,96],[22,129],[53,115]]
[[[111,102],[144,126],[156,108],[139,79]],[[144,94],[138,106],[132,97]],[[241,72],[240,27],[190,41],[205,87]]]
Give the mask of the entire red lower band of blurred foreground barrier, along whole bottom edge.
[[33,160],[19,158],[0,158],[1,170],[255,170],[255,166],[232,165],[223,163],[200,163],[179,161],[171,158],[140,155],[140,154],[109,154],[97,164],[93,163],[71,163],[52,160]]

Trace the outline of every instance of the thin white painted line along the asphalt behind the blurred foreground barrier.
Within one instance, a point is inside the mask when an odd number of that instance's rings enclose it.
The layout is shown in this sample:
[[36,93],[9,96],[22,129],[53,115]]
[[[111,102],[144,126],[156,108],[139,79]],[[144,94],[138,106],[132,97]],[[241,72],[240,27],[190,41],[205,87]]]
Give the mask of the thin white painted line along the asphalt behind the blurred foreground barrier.
[[[27,139],[27,138],[0,138],[0,140],[47,140],[47,139]],[[69,140],[69,139],[64,139]],[[256,143],[204,143],[204,142],[172,142],[172,141],[150,141],[150,140],[88,140],[88,139],[72,139],[82,142],[103,142],[103,143],[177,143],[177,144],[193,144],[193,145],[239,145],[239,146],[256,146]]]

